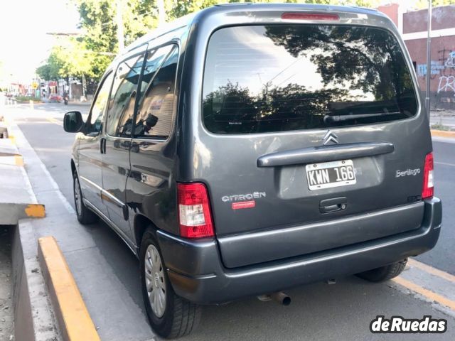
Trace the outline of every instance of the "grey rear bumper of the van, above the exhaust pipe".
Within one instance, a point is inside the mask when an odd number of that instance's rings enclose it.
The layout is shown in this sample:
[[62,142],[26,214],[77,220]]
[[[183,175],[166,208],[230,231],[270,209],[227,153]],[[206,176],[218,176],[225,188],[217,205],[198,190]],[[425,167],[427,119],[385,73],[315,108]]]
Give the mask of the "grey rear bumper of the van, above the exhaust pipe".
[[421,227],[369,242],[227,269],[215,239],[188,241],[157,232],[174,291],[200,304],[218,304],[271,293],[329,278],[357,274],[417,256],[436,244],[442,207],[437,197],[424,201]]

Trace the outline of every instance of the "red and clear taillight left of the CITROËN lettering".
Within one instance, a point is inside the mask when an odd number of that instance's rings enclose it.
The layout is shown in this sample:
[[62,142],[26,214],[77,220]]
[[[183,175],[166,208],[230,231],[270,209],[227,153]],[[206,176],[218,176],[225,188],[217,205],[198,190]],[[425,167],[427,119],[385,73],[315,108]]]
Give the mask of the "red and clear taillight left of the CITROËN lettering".
[[213,237],[213,220],[203,183],[178,183],[180,234],[186,238]]

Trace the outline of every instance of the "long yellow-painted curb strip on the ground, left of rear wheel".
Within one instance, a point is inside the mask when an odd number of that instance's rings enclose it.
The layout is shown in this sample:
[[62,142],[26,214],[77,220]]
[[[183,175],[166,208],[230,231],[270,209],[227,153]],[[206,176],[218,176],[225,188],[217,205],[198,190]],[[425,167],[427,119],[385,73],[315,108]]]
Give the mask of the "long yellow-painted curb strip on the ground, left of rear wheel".
[[73,274],[54,237],[38,239],[38,257],[63,340],[99,341]]

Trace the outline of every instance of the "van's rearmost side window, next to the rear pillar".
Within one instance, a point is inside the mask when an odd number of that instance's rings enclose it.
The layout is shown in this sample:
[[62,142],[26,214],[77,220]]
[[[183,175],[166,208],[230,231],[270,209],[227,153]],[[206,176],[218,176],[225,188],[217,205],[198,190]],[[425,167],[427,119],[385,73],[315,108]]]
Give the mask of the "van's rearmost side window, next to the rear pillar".
[[134,136],[166,139],[173,118],[178,48],[165,46],[147,59]]

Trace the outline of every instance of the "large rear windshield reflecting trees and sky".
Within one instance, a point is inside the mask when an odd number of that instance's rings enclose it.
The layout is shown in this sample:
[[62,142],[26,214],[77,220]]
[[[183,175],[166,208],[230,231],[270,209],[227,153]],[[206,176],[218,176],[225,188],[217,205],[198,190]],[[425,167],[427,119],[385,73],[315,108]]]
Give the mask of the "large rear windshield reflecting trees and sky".
[[210,38],[203,121],[214,133],[354,126],[416,112],[410,70],[383,29],[238,26]]

